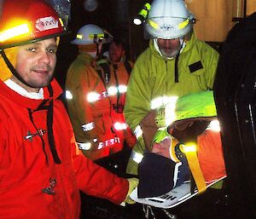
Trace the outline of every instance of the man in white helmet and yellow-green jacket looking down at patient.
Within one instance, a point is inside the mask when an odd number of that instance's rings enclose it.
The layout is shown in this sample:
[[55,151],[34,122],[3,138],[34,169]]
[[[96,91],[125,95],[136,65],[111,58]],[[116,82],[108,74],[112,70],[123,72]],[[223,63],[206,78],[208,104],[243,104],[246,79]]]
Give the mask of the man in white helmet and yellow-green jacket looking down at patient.
[[218,51],[196,38],[195,18],[183,0],[154,0],[144,23],[149,47],[132,68],[125,103],[126,122],[137,134],[126,168],[134,175],[156,130],[169,123],[170,103],[212,89],[218,65]]

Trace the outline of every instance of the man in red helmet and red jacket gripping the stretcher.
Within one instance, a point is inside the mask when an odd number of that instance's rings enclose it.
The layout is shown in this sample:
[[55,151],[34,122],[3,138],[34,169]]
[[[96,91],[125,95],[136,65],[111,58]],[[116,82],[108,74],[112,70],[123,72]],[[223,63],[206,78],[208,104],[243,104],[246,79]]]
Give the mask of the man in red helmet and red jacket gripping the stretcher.
[[119,205],[137,180],[84,157],[58,100],[56,50],[67,33],[58,14],[44,0],[6,0],[2,9],[0,218],[79,219],[79,190]]

